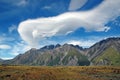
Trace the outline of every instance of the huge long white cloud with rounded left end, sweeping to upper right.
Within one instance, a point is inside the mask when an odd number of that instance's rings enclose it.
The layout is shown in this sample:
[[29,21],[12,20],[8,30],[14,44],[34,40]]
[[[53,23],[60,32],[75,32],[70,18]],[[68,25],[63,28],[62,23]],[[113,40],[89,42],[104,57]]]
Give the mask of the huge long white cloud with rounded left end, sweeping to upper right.
[[47,37],[65,35],[80,27],[86,31],[108,31],[104,26],[109,20],[120,15],[120,0],[105,0],[90,11],[67,12],[55,17],[26,20],[19,24],[18,32],[22,39],[32,47]]

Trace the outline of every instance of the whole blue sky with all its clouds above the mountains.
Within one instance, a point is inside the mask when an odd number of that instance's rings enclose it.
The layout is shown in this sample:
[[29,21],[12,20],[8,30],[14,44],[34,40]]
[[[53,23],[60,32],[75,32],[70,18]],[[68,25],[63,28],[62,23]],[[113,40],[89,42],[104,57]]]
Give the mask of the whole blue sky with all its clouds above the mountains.
[[120,0],[0,0],[0,58],[50,44],[120,36]]

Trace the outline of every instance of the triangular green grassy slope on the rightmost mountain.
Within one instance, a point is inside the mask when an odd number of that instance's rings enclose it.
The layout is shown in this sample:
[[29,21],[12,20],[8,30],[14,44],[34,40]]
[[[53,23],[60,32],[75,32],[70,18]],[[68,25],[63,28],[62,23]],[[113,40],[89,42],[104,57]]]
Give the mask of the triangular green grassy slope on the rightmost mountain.
[[120,53],[113,47],[105,50],[101,55],[96,57],[93,62],[95,64],[104,62],[105,65],[120,66]]

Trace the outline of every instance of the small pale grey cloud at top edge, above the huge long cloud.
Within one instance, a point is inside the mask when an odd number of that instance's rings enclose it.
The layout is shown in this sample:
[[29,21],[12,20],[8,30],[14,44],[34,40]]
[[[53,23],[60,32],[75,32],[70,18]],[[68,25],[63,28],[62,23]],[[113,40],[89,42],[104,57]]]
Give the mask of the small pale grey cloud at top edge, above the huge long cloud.
[[88,0],[71,0],[69,10],[70,11],[77,10],[84,6],[87,1]]

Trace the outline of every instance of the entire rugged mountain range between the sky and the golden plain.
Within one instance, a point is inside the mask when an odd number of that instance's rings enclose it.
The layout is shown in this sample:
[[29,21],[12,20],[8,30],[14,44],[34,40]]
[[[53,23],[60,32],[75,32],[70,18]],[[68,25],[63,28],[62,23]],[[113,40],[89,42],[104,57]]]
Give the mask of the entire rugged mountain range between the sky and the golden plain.
[[33,66],[120,66],[120,38],[107,38],[90,48],[72,44],[49,45],[40,49],[32,48],[11,60],[0,60],[0,62]]

